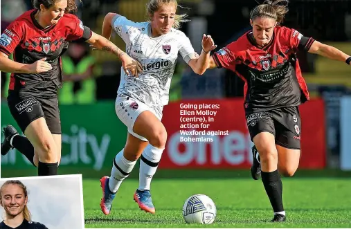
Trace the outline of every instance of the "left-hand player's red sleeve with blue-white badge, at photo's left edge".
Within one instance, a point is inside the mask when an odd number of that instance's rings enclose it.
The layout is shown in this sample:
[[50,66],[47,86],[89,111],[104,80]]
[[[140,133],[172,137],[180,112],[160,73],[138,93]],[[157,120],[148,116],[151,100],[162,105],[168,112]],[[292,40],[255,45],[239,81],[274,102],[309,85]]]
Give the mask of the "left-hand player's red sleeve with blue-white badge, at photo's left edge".
[[20,21],[13,21],[0,37],[0,51],[10,55],[24,39],[24,28]]

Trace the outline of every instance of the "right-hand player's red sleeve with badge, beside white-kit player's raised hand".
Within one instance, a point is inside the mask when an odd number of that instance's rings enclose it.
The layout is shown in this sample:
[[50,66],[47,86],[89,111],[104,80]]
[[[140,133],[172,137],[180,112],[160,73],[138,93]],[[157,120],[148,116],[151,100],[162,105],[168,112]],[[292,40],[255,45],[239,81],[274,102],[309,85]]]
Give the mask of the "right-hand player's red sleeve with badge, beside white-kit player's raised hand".
[[235,71],[235,53],[237,52],[236,46],[236,42],[232,42],[226,47],[213,53],[213,60],[218,68],[227,68],[231,71]]

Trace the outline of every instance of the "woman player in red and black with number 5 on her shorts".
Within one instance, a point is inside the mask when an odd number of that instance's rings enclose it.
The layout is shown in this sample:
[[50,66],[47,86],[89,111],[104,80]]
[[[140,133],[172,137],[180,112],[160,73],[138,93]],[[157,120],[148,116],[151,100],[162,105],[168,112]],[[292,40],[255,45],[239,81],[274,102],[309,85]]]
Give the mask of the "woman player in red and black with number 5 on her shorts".
[[234,71],[245,82],[246,122],[255,144],[251,174],[255,180],[262,176],[273,207],[272,221],[285,221],[280,174],[293,176],[298,168],[298,105],[309,100],[296,52],[308,51],[349,65],[351,61],[332,46],[278,26],[286,12],[287,1],[281,0],[255,7],[250,19],[253,29],[214,53],[208,66]]

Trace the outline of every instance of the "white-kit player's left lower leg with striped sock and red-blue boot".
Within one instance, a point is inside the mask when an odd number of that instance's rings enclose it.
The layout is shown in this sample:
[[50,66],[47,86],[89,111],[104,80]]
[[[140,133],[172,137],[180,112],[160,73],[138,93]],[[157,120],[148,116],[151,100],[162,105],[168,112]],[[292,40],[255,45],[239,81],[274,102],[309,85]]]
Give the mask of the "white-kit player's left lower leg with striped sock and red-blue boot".
[[102,187],[102,199],[100,202],[101,210],[104,214],[111,212],[112,201],[116,192],[118,191],[121,183],[124,181],[130,172],[132,172],[136,161],[129,161],[123,155],[124,149],[122,149],[114,158],[112,164],[111,176],[104,176],[101,178]]

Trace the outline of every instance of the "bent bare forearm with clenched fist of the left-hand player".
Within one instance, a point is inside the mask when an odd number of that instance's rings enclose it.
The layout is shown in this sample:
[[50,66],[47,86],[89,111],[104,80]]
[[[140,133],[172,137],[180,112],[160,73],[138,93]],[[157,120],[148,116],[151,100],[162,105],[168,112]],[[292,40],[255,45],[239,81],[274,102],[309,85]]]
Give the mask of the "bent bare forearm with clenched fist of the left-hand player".
[[42,73],[51,70],[51,64],[44,59],[40,59],[33,64],[21,64],[8,58],[3,52],[0,52],[0,71],[6,73]]

